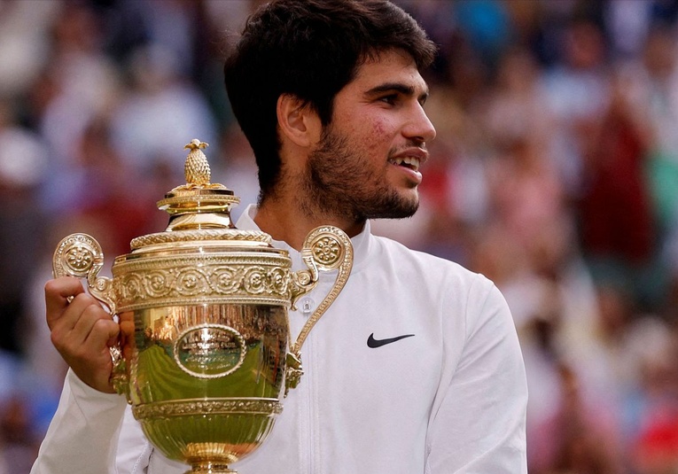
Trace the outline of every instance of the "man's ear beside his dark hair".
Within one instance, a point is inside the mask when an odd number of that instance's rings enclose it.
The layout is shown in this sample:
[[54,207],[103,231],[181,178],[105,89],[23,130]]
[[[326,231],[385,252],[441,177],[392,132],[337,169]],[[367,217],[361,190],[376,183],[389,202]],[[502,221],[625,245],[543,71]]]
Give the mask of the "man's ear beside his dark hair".
[[282,94],[277,97],[277,125],[283,137],[297,146],[308,147],[320,137],[320,119],[299,97]]

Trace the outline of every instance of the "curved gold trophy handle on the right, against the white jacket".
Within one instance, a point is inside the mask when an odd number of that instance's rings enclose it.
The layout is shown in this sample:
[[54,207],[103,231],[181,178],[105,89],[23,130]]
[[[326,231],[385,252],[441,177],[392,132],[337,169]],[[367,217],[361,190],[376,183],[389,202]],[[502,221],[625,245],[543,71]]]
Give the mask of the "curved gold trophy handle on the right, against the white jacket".
[[308,337],[308,333],[346,285],[353,267],[353,245],[351,239],[343,230],[333,226],[317,227],[311,230],[306,237],[301,249],[301,258],[306,263],[308,270],[300,270],[292,274],[292,309],[295,308],[297,300],[303,294],[316,286],[319,272],[339,271],[331,291],[325,296],[323,302],[316,307],[316,311],[308,318],[306,324],[301,328],[297,340],[290,347],[290,352],[286,358],[285,396],[291,388],[299,385],[300,377],[304,373],[301,367],[301,346]]

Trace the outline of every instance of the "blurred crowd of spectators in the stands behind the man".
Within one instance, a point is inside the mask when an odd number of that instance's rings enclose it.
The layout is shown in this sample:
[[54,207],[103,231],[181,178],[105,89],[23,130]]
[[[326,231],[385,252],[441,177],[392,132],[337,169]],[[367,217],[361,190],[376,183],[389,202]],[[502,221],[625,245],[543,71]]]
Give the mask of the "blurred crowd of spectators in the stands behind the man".
[[[258,193],[222,86],[259,1],[0,0],[0,474],[66,370],[51,254],[160,231],[183,145]],[[678,472],[678,2],[400,0],[440,44],[422,206],[374,230],[493,279],[530,389],[532,474]],[[238,216],[244,205],[236,208]]]

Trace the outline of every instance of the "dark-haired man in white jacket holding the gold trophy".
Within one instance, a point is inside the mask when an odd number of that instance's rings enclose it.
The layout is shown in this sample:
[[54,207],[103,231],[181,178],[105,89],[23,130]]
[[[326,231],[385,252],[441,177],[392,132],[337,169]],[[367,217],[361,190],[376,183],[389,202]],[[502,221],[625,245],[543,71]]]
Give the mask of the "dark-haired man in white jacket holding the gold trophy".
[[[226,62],[261,183],[238,227],[268,232],[297,266],[318,225],[346,231],[355,250],[347,286],[305,343],[300,385],[269,439],[233,466],[244,474],[526,472],[525,373],[501,294],[370,234],[369,219],[417,209],[435,136],[419,70],[433,55],[394,4],[280,0],[248,20]],[[186,470],[153,450],[121,397],[103,393],[117,325],[74,279],[45,291],[71,370],[34,474]],[[305,318],[291,312],[292,333]]]

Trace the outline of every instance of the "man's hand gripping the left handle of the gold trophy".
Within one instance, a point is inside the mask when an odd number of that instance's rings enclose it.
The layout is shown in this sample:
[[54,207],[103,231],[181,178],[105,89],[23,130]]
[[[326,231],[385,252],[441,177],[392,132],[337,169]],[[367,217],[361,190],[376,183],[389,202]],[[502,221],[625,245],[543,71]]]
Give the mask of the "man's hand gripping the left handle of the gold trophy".
[[51,342],[58,353],[82,382],[113,393],[109,347],[118,340],[118,323],[72,276],[50,280],[44,291]]

